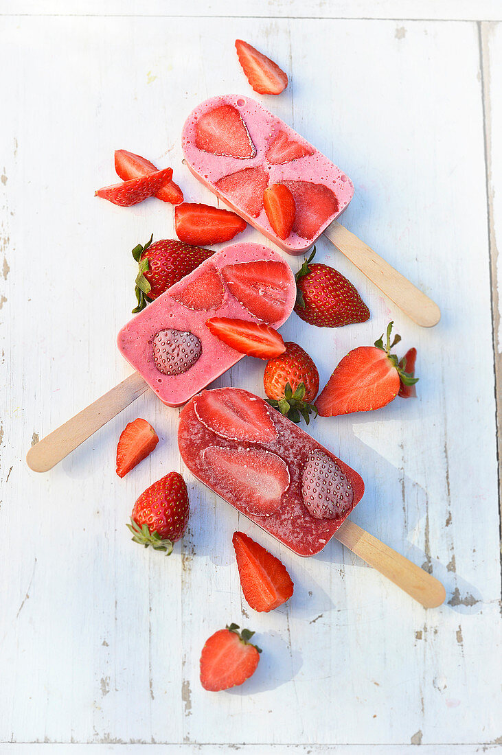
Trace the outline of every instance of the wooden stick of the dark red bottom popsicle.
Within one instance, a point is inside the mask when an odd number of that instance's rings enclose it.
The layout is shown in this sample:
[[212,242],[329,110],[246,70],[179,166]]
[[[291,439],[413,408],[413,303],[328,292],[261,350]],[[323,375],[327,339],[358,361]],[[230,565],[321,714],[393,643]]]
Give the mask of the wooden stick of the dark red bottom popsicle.
[[445,602],[445,588],[433,575],[424,572],[396,550],[384,545],[350,519],[346,519],[334,537],[356,556],[377,569],[390,581],[405,590],[426,609],[434,609]]

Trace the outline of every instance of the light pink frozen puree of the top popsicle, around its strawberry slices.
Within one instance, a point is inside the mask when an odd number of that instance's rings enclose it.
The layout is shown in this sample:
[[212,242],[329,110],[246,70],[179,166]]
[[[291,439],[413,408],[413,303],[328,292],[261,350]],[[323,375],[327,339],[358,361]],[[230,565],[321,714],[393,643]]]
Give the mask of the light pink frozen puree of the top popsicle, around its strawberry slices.
[[[206,113],[211,112],[222,105],[235,107],[245,123],[251,142],[256,149],[256,156],[251,158],[229,157],[226,155],[217,155],[199,149],[196,146],[196,129],[197,122]],[[306,154],[297,159],[291,159],[282,165],[271,165],[266,159],[266,153],[269,146],[276,139],[279,131],[285,132],[288,139],[300,143],[305,147]],[[264,234],[268,239],[277,244],[289,254],[303,254],[306,249],[310,248],[316,238],[328,227],[331,220],[338,217],[350,200],[353,198],[354,187],[349,177],[347,177],[340,168],[337,168],[327,157],[320,153],[315,147],[306,142],[300,134],[289,128],[282,120],[274,116],[271,112],[263,108],[260,104],[251,100],[249,97],[242,97],[238,94],[225,94],[221,97],[211,97],[206,100],[195,110],[192,111],[183,126],[182,134],[183,154],[186,163],[194,174],[205,186],[208,186],[214,194],[223,199],[227,205],[233,208],[248,223],[251,223],[257,230]],[[214,184],[218,180],[230,174],[242,171],[245,168],[254,168],[262,166],[269,174],[269,186],[282,181],[306,181],[309,183],[322,184],[328,187],[334,193],[337,200],[337,210],[325,219],[310,239],[304,239],[297,233],[293,232],[288,239],[279,239],[279,236],[273,231],[266,212],[262,208],[257,217],[249,214],[242,203],[236,202],[235,197],[230,198],[218,190]],[[291,187],[290,187],[291,188]]]

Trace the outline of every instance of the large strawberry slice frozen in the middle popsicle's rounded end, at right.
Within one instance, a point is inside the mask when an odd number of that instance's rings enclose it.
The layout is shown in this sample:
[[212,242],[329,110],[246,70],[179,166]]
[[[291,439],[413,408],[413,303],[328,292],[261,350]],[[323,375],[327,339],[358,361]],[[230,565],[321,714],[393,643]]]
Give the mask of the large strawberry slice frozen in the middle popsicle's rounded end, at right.
[[230,293],[251,315],[264,322],[277,322],[284,316],[288,272],[285,262],[275,260],[240,262],[221,269]]

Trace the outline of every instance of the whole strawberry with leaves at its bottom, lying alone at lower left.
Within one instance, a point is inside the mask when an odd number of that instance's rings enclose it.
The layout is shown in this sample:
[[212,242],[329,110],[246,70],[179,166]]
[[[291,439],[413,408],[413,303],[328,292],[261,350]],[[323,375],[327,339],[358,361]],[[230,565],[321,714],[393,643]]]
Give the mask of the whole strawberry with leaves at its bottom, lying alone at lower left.
[[188,492],[183,477],[170,472],[140,495],[134,504],[128,528],[135,543],[171,554],[188,523]]

